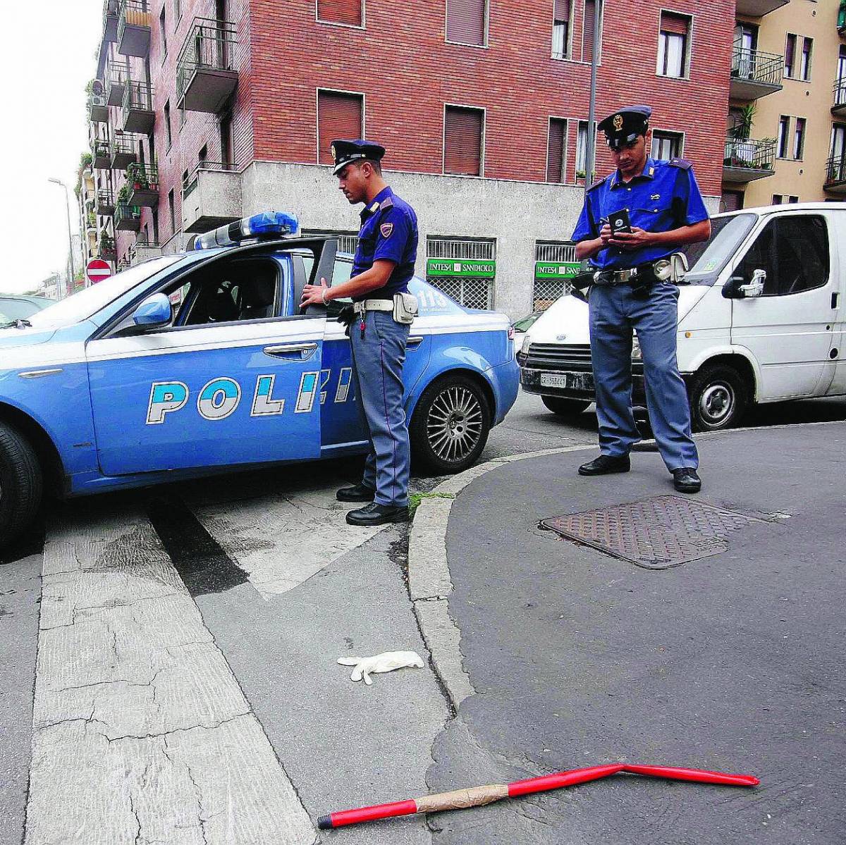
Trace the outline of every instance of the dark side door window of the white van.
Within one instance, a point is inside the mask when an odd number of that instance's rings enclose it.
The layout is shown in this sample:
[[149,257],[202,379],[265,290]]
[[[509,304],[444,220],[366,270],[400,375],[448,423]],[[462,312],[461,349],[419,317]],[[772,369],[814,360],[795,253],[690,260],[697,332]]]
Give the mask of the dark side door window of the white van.
[[755,239],[735,272],[746,282],[766,272],[764,296],[789,296],[828,282],[828,231],[819,215],[777,217]]

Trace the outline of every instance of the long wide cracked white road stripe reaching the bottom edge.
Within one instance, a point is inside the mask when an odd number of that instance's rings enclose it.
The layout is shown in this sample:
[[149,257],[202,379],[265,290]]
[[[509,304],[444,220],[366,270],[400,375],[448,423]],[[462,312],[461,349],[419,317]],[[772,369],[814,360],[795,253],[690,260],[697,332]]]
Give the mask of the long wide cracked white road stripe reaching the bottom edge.
[[74,516],[50,529],[33,718],[26,845],[314,842],[138,513]]

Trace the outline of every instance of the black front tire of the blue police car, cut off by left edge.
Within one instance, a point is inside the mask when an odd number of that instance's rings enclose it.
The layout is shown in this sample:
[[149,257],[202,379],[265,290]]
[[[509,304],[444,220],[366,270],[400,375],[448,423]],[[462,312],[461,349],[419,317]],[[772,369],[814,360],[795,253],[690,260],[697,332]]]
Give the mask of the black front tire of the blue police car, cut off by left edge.
[[0,422],[0,545],[8,546],[36,518],[43,483],[30,442]]

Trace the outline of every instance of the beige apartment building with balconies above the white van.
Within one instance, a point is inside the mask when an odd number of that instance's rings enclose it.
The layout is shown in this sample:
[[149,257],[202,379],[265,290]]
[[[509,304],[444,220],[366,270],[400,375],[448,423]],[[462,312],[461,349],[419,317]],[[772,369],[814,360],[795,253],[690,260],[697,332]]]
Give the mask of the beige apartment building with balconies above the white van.
[[846,195],[846,3],[738,0],[722,210]]

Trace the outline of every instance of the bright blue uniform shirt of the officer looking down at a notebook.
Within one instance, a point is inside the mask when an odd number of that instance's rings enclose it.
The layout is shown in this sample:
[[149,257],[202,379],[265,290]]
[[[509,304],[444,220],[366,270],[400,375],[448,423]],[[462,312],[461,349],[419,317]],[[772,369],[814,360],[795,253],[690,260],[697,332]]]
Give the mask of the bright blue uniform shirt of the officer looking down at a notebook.
[[[669,162],[647,158],[643,173],[629,184],[624,183],[619,171],[615,170],[588,189],[573,233],[574,242],[598,238],[608,217],[624,208],[629,211],[632,226],[646,232],[669,232],[708,219],[690,162],[680,158]],[[677,249],[650,246],[626,251],[609,246],[591,258],[591,265],[600,270],[625,270],[666,258]]]

